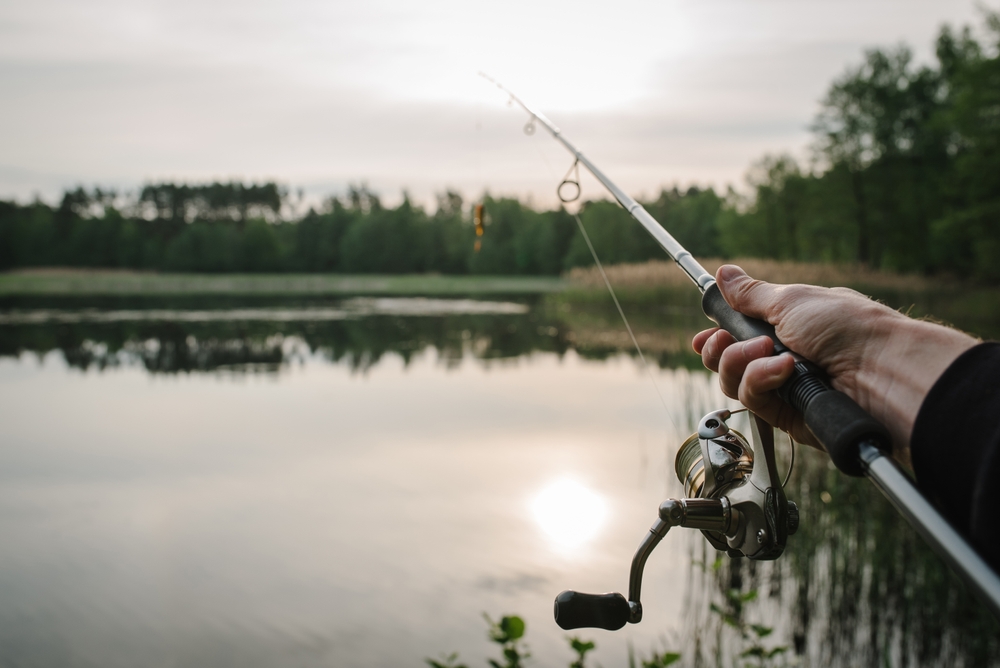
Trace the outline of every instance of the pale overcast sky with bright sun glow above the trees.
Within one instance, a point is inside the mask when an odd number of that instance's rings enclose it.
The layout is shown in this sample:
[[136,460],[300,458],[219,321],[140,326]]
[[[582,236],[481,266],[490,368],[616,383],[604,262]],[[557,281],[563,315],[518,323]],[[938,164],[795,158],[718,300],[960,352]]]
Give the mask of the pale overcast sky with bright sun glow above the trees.
[[[867,48],[933,56],[972,0],[0,0],[0,199],[277,180],[553,206],[571,163],[487,72],[633,195],[807,158]],[[584,197],[601,196],[584,181]]]

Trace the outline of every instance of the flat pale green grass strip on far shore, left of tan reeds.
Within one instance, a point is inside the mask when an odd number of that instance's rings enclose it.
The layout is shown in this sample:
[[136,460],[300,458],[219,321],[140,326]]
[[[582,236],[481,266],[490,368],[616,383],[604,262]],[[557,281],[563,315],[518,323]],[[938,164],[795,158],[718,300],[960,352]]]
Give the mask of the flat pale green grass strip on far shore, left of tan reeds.
[[566,287],[547,276],[346,274],[158,274],[37,269],[0,274],[0,297],[336,296],[544,294]]

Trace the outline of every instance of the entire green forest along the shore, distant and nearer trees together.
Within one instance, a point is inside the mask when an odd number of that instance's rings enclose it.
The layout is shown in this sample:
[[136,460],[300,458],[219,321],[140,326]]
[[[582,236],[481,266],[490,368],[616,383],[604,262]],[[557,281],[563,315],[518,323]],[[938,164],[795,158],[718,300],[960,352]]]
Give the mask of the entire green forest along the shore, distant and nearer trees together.
[[[1000,14],[981,34],[943,27],[934,60],[867,51],[832,82],[812,155],[765,156],[748,190],[664,188],[643,205],[692,253],[861,264],[1000,282]],[[304,215],[276,183],[67,191],[58,206],[0,202],[0,270],[559,274],[592,262],[573,216],[454,192],[433,212],[364,187]],[[663,257],[616,204],[581,206],[602,261]]]

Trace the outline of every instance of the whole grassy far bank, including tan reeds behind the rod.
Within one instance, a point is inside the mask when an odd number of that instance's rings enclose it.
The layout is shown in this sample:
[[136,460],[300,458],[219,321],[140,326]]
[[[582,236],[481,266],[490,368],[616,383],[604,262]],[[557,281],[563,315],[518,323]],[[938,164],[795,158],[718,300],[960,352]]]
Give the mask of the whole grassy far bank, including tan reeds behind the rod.
[[[957,280],[872,271],[861,267],[734,260],[755,277],[774,283],[846,286],[915,317],[930,317],[986,338],[1000,338],[1000,289]],[[721,260],[705,260],[714,272]],[[681,344],[667,330],[697,331],[704,323],[700,296],[672,262],[620,264],[606,268],[653,351],[675,354]],[[580,335],[597,348],[628,348],[604,282],[596,268],[547,276],[442,276],[433,274],[172,274],[113,270],[34,269],[0,273],[0,298],[247,298],[421,295],[545,296],[559,316],[577,322]],[[610,310],[609,310],[610,309]],[[591,332],[593,335],[587,335]],[[622,340],[618,340],[622,339]]]

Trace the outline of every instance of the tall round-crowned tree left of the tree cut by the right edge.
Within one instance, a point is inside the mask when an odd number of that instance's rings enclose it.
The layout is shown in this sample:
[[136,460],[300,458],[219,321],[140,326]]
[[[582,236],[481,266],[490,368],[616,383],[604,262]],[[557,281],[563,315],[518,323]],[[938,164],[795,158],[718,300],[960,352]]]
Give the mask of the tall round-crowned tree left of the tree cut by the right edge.
[[905,46],[868,51],[833,83],[814,129],[830,169],[848,176],[855,259],[922,271],[930,223],[943,209],[948,154],[939,118],[949,90],[939,69],[912,60]]

